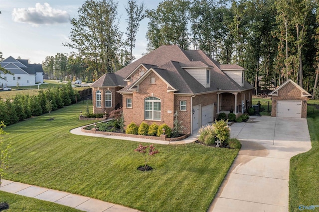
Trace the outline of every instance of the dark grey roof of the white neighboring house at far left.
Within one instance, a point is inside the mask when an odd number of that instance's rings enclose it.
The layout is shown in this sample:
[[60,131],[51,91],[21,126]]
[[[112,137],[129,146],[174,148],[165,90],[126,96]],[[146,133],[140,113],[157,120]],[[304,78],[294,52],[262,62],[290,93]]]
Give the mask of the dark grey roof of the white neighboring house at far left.
[[[43,73],[41,64],[29,64],[28,60],[16,60],[11,56],[0,62],[0,65],[2,68],[10,71],[13,74],[35,75],[37,72]],[[3,72],[0,71],[0,73]]]

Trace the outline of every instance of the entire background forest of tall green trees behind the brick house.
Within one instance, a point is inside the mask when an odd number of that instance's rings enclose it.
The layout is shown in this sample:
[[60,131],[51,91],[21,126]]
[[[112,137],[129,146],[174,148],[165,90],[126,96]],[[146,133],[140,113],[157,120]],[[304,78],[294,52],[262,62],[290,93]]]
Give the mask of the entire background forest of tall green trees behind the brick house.
[[149,20],[146,53],[165,44],[203,50],[221,64],[238,64],[245,78],[272,89],[288,78],[306,90],[319,72],[318,0],[164,0],[147,9],[127,2],[127,30],[119,30],[118,2],[87,0],[71,20],[71,55],[47,56],[51,79],[92,81],[134,60],[140,21]]

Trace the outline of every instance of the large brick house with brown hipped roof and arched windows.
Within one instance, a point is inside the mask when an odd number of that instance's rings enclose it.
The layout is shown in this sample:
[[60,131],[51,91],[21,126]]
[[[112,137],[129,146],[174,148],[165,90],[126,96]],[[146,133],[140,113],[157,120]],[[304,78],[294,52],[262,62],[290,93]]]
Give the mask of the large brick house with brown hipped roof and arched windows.
[[167,124],[174,112],[191,133],[214,121],[221,111],[244,112],[254,89],[244,69],[221,65],[201,50],[164,45],[92,85],[93,112],[123,107],[125,124]]

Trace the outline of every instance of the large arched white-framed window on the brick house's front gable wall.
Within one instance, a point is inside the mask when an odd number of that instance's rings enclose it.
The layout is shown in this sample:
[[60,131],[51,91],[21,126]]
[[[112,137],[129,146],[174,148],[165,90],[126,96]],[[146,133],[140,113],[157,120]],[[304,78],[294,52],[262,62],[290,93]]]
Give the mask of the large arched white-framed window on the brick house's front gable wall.
[[160,99],[148,97],[145,99],[145,119],[160,120]]

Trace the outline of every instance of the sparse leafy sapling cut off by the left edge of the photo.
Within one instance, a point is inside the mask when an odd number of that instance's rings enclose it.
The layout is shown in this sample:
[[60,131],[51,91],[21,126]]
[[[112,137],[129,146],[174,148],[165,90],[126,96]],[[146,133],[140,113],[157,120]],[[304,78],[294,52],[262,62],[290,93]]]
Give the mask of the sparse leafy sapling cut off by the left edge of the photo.
[[11,143],[4,144],[3,136],[7,133],[3,130],[6,126],[4,125],[4,122],[0,122],[0,186],[1,181],[5,175],[5,170],[9,167],[8,166],[8,160],[10,157],[9,151],[12,149]]

